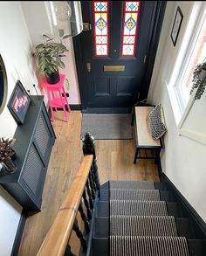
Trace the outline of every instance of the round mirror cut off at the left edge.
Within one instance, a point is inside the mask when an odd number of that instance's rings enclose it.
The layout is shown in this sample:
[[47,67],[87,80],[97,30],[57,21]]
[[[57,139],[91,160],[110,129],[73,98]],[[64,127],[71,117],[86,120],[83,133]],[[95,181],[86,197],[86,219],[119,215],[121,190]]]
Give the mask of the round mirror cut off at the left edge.
[[6,69],[3,63],[2,56],[0,55],[0,114],[3,111],[7,98],[7,76]]

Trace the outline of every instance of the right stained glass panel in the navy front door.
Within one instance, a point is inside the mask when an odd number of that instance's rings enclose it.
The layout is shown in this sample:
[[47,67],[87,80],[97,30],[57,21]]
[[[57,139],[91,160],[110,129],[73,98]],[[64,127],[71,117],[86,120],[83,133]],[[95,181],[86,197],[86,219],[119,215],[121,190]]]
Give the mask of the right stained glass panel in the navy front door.
[[122,56],[134,56],[139,10],[139,1],[124,2]]

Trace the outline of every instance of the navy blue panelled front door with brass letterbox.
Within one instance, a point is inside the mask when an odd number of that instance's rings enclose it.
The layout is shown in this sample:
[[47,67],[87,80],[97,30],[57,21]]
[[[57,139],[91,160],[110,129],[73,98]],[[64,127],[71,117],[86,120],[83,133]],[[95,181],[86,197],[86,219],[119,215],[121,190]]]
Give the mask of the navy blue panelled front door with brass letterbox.
[[76,39],[80,52],[77,52],[76,47],[75,53],[79,55],[76,58],[77,66],[81,66],[78,67],[82,77],[79,87],[85,112],[127,112],[141,96],[154,22],[154,2],[140,2],[136,22],[137,37],[132,42],[134,56],[122,55],[122,44],[127,44],[123,38],[124,24],[127,22],[131,31],[135,24],[133,17],[125,18],[125,4],[124,1],[108,1],[106,22],[104,16],[98,19],[100,26],[108,27],[108,54],[100,56],[95,41],[98,31],[95,31],[97,20],[94,17],[93,2],[81,2],[83,21],[87,26]]

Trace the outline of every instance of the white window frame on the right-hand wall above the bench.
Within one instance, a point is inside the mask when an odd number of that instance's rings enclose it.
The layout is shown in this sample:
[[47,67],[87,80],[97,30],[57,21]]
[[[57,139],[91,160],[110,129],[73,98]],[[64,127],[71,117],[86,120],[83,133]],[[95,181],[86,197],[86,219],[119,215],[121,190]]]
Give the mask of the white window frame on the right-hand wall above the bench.
[[185,134],[182,130],[182,125],[194,104],[196,94],[196,91],[194,91],[194,93],[190,95],[188,103],[185,104],[182,97],[181,82],[189,65],[189,59],[191,58],[192,52],[196,46],[196,40],[202,29],[205,15],[206,4],[204,2],[194,3],[185,34],[182,39],[182,45],[175,61],[175,68],[168,83],[169,99],[175,114],[175,122],[180,135]]

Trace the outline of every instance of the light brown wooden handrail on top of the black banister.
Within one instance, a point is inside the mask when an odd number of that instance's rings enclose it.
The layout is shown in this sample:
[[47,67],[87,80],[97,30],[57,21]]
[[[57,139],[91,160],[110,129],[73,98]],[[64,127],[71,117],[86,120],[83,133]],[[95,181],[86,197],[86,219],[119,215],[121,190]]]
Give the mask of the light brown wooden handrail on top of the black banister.
[[38,251],[38,256],[64,255],[92,163],[93,155],[84,156],[58,215]]

